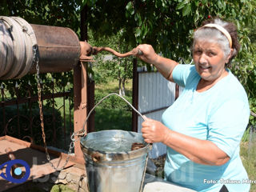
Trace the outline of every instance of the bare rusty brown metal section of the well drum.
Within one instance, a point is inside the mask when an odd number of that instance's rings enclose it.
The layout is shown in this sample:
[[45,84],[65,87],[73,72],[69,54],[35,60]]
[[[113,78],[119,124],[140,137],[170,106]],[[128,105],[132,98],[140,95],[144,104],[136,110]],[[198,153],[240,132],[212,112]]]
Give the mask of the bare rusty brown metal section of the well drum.
[[[67,27],[30,24],[38,42],[40,73],[72,70],[78,63],[78,36]],[[35,65],[30,74],[36,73]]]

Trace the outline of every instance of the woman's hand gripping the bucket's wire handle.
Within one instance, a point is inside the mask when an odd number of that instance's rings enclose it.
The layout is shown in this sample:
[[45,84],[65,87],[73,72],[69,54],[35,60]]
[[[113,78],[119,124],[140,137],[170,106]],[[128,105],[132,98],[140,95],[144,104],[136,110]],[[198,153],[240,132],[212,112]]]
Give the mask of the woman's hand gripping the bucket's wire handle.
[[166,142],[170,130],[162,122],[146,117],[145,119],[146,121],[142,122],[142,137],[145,142]]

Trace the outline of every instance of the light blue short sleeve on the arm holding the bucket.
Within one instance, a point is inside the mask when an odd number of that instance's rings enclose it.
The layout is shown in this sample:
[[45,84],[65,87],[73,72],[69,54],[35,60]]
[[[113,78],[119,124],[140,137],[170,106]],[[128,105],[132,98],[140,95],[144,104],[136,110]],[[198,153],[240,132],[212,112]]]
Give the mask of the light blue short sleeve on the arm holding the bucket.
[[223,103],[210,115],[207,139],[232,158],[246,130],[249,117],[250,108],[247,102],[234,99]]

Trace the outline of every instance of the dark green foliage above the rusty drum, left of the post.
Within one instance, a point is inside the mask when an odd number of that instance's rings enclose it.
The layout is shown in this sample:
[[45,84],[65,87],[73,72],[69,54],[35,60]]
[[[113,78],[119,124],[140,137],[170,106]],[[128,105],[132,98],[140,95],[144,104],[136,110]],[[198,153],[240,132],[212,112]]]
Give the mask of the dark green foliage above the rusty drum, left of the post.
[[0,2],[0,15],[24,18],[33,24],[66,26],[78,31],[78,0],[26,0]]

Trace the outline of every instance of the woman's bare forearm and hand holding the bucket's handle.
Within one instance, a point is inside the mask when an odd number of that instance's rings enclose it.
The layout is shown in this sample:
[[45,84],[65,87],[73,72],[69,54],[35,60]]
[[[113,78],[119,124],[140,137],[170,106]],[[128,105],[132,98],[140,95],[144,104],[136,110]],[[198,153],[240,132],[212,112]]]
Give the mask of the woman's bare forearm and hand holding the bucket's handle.
[[221,166],[230,160],[230,157],[214,142],[169,130],[161,122],[150,118],[146,118],[146,121],[142,122],[142,136],[146,142],[162,142],[191,161],[200,164]]

